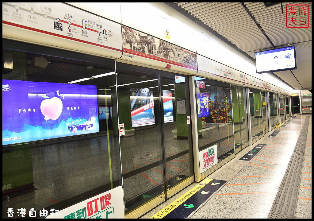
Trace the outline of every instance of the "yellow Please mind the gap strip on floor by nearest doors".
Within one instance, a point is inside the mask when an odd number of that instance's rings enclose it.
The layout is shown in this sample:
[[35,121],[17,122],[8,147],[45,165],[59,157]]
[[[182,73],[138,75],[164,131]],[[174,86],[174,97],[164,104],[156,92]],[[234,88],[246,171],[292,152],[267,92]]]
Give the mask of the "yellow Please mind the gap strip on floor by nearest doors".
[[176,207],[180,206],[183,202],[185,202],[188,198],[193,196],[195,193],[197,193],[200,189],[202,189],[206,184],[208,184],[213,179],[205,179],[202,182],[200,182],[198,185],[194,186],[191,190],[187,191],[185,194],[177,198],[175,201],[171,202],[168,206],[163,208],[162,210],[155,213],[153,216],[150,217],[150,219],[154,218],[160,218],[160,216],[157,216],[157,214],[161,213],[161,211],[168,211],[170,213],[172,210],[174,210]]

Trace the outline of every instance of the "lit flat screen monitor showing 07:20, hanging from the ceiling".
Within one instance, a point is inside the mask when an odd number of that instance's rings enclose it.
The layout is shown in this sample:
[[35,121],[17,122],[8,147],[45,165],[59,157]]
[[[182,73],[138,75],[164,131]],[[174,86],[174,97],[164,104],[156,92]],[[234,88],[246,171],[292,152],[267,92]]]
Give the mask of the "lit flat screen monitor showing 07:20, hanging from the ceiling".
[[255,52],[255,64],[258,74],[296,69],[295,47]]

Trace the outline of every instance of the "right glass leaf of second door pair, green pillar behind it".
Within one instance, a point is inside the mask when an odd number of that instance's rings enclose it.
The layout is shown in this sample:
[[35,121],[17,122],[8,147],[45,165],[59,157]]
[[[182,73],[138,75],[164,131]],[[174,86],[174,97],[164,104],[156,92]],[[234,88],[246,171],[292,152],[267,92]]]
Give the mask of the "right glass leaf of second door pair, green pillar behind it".
[[238,87],[242,145],[246,144],[249,141],[249,135],[246,126],[246,103],[244,90],[245,88]]

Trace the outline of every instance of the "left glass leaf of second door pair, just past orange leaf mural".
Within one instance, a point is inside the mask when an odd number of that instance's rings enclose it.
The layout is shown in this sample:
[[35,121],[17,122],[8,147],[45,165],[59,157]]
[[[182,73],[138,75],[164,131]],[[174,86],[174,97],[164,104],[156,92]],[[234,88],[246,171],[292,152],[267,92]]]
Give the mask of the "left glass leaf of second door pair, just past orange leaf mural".
[[239,96],[241,96],[241,94],[238,93],[238,89],[241,90],[241,88],[231,86],[235,149],[241,148],[241,124],[243,122],[239,107],[239,99],[241,99]]

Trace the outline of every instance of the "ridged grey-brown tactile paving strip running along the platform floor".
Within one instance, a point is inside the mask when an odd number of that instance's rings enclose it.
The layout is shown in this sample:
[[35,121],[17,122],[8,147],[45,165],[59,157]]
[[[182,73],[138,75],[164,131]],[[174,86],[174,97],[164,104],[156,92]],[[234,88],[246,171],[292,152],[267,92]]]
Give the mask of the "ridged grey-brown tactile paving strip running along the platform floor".
[[306,117],[268,218],[295,218],[310,117]]

